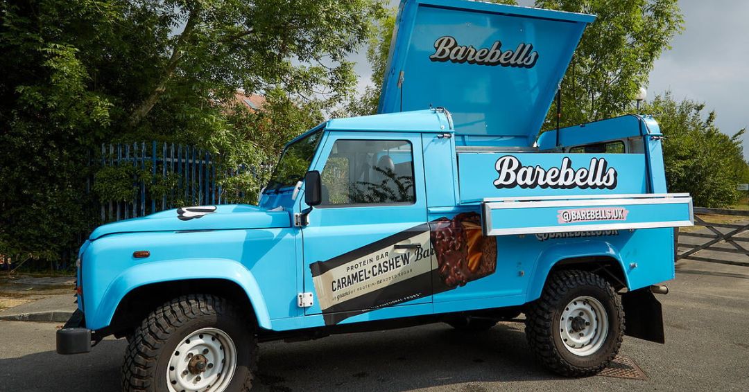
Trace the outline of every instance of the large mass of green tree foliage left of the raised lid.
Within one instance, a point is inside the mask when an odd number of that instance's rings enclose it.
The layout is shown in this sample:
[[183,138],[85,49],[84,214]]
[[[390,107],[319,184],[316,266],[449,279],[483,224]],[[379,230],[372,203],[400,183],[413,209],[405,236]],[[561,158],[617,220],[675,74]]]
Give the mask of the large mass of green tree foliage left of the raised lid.
[[[86,189],[101,143],[273,162],[282,138],[351,94],[345,57],[382,13],[378,0],[0,1],[0,254],[56,259],[79,244],[96,222]],[[238,87],[267,94],[267,112],[231,110]],[[255,195],[263,175],[225,185]]]

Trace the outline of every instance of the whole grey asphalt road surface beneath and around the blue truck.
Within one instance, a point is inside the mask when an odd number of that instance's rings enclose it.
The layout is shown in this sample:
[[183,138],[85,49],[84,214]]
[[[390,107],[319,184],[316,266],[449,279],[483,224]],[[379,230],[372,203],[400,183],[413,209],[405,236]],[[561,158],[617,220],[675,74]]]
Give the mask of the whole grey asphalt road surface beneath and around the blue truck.
[[[648,380],[562,379],[536,364],[523,325],[447,325],[261,344],[253,391],[746,391],[749,268],[682,264],[664,304],[667,343],[625,338]],[[715,272],[718,270],[718,272]],[[118,391],[124,340],[55,354],[52,323],[0,322],[0,391]]]

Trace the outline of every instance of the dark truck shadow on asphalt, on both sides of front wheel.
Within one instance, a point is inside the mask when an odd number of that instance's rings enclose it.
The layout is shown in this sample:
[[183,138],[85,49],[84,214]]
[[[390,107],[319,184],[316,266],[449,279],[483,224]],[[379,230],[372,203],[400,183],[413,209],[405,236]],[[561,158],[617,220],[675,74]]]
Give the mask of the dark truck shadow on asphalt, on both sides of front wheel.
[[[124,339],[103,340],[85,355],[48,351],[0,359],[0,391],[120,391],[125,346]],[[423,325],[291,344],[262,343],[260,349],[252,391],[409,391],[438,386],[484,391],[470,383],[558,379],[533,360],[521,323],[500,323],[476,333]]]

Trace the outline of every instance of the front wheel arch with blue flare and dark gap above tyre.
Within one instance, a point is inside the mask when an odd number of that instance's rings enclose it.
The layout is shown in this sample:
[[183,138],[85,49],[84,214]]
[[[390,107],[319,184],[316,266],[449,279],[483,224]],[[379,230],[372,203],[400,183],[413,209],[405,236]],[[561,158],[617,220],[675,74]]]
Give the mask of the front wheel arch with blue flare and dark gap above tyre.
[[271,328],[267,305],[252,273],[236,261],[212,259],[172,260],[127,269],[108,287],[94,317],[86,323],[91,329],[121,334],[160,304],[198,293],[234,301],[252,312],[259,328]]

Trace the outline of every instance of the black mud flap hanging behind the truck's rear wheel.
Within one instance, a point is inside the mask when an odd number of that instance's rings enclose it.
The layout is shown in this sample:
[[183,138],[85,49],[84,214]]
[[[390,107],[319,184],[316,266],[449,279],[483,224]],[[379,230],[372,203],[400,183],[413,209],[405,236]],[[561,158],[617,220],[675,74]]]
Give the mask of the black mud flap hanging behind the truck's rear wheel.
[[655,343],[666,343],[661,302],[655,299],[650,287],[622,295],[622,307],[626,335]]

